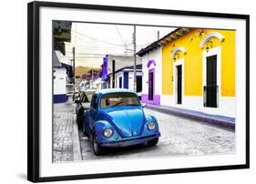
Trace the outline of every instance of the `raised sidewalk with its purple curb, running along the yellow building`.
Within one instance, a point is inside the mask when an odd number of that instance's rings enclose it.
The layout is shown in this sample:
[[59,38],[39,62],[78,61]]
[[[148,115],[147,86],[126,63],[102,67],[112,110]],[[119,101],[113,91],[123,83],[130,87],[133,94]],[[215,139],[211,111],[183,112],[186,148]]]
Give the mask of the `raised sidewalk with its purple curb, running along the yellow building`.
[[210,125],[214,125],[220,128],[227,128],[235,130],[235,118],[229,118],[218,115],[210,115],[203,112],[188,110],[179,107],[168,107],[168,106],[155,106],[147,104],[147,107],[152,110],[167,113],[169,115],[179,116],[182,118],[189,118],[197,121],[202,121]]

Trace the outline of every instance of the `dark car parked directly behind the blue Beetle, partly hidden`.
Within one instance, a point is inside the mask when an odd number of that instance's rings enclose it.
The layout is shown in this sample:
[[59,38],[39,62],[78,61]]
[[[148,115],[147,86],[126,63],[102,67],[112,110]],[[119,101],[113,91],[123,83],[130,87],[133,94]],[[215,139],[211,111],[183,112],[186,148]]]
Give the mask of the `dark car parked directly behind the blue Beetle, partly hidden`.
[[83,129],[84,112],[90,107],[91,98],[96,91],[97,89],[87,89],[86,91],[81,91],[79,99],[75,101],[77,103],[76,113],[78,129]]

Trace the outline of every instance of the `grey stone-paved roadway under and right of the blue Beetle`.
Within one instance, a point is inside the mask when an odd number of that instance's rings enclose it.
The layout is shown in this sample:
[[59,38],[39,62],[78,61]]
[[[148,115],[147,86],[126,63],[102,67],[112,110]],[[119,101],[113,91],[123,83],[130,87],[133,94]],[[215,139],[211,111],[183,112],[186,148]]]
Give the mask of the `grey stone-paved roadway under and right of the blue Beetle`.
[[156,147],[109,148],[107,154],[97,157],[93,153],[91,143],[80,132],[82,159],[178,157],[233,154],[236,151],[234,131],[168,115],[147,107],[144,111],[159,121],[161,137]]

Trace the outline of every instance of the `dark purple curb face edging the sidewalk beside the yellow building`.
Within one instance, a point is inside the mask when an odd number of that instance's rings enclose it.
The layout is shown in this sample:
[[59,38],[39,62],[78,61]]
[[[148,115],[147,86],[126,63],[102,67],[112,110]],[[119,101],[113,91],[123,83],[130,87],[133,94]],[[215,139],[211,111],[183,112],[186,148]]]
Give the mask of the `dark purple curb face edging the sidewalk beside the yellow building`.
[[199,116],[196,114],[189,114],[189,113],[184,113],[184,112],[175,111],[175,110],[171,110],[171,109],[165,109],[165,108],[161,108],[161,107],[152,107],[149,105],[147,105],[147,108],[156,110],[156,111],[159,111],[162,113],[182,117],[182,118],[189,118],[189,119],[193,119],[193,120],[197,120],[197,121],[202,121],[203,123],[207,123],[207,124],[210,124],[213,126],[217,126],[220,128],[227,128],[229,130],[235,131],[235,124],[231,123],[230,121],[225,121],[225,120],[221,120],[221,119],[217,119],[217,118],[203,117],[203,116]]

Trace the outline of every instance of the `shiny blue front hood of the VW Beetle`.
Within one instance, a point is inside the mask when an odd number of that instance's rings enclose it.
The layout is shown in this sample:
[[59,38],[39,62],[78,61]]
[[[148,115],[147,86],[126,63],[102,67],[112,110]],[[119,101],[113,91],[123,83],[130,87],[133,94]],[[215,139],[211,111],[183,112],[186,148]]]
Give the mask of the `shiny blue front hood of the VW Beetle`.
[[103,112],[122,138],[135,137],[143,131],[145,116],[140,107],[106,108]]

